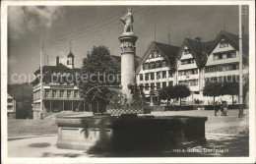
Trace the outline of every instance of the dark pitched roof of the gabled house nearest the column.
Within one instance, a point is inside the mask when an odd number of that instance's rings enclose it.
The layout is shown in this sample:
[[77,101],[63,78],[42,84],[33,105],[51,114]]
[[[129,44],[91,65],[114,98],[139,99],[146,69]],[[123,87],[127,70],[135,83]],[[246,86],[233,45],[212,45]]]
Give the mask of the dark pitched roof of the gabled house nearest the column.
[[160,51],[160,56],[167,61],[169,69],[175,70],[179,47],[153,41],[136,67],[136,74],[141,71],[141,65],[148,59],[154,49]]

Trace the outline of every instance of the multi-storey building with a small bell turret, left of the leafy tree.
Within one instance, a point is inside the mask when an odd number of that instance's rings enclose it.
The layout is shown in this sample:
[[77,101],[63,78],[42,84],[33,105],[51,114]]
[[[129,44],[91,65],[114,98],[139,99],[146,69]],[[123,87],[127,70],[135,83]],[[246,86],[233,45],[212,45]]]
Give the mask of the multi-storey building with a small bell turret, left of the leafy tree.
[[[74,68],[74,55],[70,51],[68,54],[67,66],[59,62],[56,57],[56,66],[43,66],[43,79],[40,83],[40,70],[35,71],[36,79],[33,84],[33,118],[41,118],[42,112],[58,112],[65,110],[86,110],[85,102],[81,102],[76,78],[79,76],[81,69]],[[42,84],[43,93],[40,97],[40,86]],[[42,109],[40,102],[42,101]],[[79,105],[80,103],[80,105]]]

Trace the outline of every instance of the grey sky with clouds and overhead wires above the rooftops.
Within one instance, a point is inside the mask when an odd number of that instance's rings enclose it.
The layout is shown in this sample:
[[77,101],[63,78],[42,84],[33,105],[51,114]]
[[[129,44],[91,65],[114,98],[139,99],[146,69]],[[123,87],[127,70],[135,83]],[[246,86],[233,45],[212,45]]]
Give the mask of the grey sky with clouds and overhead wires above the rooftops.
[[66,63],[70,47],[76,68],[94,46],[104,45],[112,55],[120,55],[119,20],[128,7],[140,57],[155,40],[155,25],[156,41],[168,43],[170,31],[170,44],[175,46],[184,37],[213,40],[223,29],[238,34],[238,6],[9,6],[8,83],[17,82],[13,75],[29,77],[39,68],[39,39],[45,40],[44,65],[55,65],[56,56]]

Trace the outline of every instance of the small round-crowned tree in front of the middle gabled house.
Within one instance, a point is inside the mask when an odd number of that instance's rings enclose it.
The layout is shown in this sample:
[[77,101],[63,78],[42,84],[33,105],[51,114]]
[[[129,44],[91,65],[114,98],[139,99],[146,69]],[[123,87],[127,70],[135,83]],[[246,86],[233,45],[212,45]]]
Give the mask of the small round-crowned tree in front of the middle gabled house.
[[187,85],[177,84],[173,87],[173,97],[179,98],[181,106],[181,98],[188,97],[191,94],[191,90]]

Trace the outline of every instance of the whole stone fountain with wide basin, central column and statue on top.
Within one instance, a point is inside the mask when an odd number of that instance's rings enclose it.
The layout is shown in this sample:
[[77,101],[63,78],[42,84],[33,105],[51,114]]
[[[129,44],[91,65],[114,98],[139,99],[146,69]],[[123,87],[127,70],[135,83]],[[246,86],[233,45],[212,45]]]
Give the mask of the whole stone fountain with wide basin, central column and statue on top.
[[[134,56],[138,39],[133,34],[131,10],[121,19],[124,32],[121,42],[122,93],[132,100],[129,85],[136,86]],[[111,112],[118,112],[118,109]],[[58,117],[58,148],[81,149],[88,152],[171,149],[188,141],[205,141],[207,117],[138,116],[142,111],[129,109],[120,116],[94,115],[87,117]],[[131,114],[133,113],[133,114]]]

